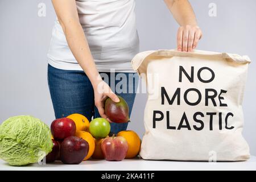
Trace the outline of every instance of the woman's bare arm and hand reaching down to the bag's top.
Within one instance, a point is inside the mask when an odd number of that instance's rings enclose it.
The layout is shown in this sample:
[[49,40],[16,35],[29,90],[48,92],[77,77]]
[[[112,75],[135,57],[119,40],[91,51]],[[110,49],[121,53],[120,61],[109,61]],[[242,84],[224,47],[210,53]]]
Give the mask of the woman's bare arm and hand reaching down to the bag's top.
[[202,32],[197,26],[196,16],[187,0],[164,0],[168,9],[180,24],[177,31],[177,50],[191,52],[195,49],[202,37]]

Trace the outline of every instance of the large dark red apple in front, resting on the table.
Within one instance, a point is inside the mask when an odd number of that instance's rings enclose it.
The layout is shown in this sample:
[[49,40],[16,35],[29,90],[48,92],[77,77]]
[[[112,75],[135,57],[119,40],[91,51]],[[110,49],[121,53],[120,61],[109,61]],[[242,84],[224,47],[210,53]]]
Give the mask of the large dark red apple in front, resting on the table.
[[78,137],[68,137],[60,145],[60,160],[64,164],[80,164],[89,151],[89,143]]

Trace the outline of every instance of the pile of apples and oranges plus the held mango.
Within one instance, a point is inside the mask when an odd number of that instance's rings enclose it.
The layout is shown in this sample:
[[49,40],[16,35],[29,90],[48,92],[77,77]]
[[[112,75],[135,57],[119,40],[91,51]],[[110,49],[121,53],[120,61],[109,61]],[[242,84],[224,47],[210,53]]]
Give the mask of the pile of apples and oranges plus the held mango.
[[[109,98],[105,102],[105,113],[111,121],[129,121],[129,108],[119,97],[115,103]],[[81,114],[55,119],[51,124],[52,151],[46,162],[61,160],[64,164],[79,164],[90,158],[121,161],[138,155],[141,140],[134,131],[120,131],[117,136],[110,133],[110,123],[104,118],[91,122]]]

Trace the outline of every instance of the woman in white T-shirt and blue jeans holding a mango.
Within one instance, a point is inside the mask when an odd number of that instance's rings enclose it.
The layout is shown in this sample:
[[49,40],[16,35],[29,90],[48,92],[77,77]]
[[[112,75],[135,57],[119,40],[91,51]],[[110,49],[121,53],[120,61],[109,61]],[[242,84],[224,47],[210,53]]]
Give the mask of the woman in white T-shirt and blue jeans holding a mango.
[[[180,24],[177,50],[191,52],[202,34],[190,3],[165,2]],[[119,102],[113,89],[121,78],[125,84],[119,85],[119,90],[127,88],[130,92],[117,93],[127,101],[131,113],[138,84],[130,63],[139,52],[135,0],[52,0],[52,3],[57,20],[48,52],[48,85],[55,117],[80,113],[89,120],[108,119],[104,100],[110,97]],[[126,128],[127,123],[111,123],[113,133]]]

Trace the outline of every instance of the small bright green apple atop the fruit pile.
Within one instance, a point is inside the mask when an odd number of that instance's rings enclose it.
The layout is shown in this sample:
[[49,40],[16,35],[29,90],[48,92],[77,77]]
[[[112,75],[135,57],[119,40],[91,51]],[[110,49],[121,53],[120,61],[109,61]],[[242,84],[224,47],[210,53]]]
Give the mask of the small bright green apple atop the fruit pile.
[[89,131],[96,139],[105,138],[110,132],[110,123],[104,118],[95,118],[90,122]]

